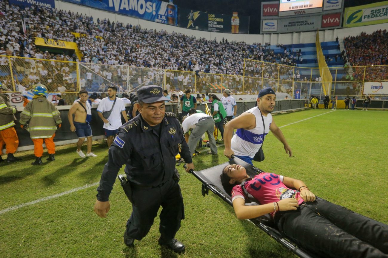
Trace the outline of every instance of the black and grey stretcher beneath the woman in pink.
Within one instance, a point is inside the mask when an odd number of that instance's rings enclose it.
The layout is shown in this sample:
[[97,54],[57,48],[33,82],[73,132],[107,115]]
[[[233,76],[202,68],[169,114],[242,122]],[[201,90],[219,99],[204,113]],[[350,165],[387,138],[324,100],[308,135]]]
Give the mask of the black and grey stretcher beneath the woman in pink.
[[[264,172],[261,169],[258,169],[239,158],[233,158],[229,162],[222,163],[215,167],[204,169],[201,171],[193,171],[191,173],[202,182],[202,195],[209,195],[209,189],[213,193],[217,194],[222,200],[226,201],[230,206],[232,206],[232,198],[229,193],[225,193],[220,179],[221,171],[229,164],[238,164],[245,167],[246,172],[249,176],[253,177],[259,173]],[[246,205],[257,205],[257,203],[246,203]],[[284,247],[290,249],[294,254],[302,258],[315,258],[316,255],[309,253],[306,250],[303,250],[296,246],[292,241],[286,238],[279,230],[275,228],[274,222],[270,215],[264,215],[254,219],[249,219],[253,224],[262,229],[269,236],[274,238],[277,242],[282,244]]]

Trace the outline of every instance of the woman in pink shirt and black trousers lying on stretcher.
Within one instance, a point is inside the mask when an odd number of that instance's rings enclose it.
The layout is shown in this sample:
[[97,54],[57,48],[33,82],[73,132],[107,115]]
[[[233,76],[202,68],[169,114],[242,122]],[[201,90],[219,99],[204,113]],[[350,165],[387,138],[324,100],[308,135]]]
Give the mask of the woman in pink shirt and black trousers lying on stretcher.
[[[220,175],[239,219],[270,213],[276,227],[299,246],[323,257],[388,257],[388,226],[342,206],[315,199],[298,179],[273,173],[249,177],[241,165]],[[294,190],[294,189],[298,189]],[[245,205],[246,200],[260,205]]]

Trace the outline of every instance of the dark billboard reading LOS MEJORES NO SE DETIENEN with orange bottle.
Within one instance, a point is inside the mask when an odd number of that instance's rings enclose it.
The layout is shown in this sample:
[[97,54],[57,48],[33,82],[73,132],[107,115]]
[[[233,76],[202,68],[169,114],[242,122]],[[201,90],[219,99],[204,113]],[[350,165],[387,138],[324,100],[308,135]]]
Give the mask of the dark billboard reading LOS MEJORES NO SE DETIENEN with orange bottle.
[[249,33],[249,16],[215,14],[179,8],[179,27],[221,33]]

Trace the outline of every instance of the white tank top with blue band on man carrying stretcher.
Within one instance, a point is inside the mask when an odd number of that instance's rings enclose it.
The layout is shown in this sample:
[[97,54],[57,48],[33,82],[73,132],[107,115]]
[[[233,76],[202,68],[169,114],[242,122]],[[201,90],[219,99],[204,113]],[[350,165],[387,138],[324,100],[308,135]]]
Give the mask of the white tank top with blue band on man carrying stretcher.
[[[251,113],[256,117],[256,127],[253,129],[237,129],[236,134],[232,138],[231,148],[235,155],[249,156],[253,158],[256,152],[263,144],[263,120],[260,115],[260,110],[257,107],[251,108],[246,113]],[[269,127],[272,123],[272,115],[263,116],[265,123],[264,138],[269,132]]]

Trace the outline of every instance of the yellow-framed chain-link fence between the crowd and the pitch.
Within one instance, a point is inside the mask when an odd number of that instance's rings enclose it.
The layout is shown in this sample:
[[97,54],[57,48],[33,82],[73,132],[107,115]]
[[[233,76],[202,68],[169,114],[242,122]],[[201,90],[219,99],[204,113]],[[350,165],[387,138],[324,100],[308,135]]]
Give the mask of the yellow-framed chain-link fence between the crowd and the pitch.
[[[361,98],[365,82],[388,81],[388,65],[326,69],[333,77],[326,92],[328,95]],[[80,89],[101,93],[113,85],[118,88],[118,93],[129,93],[150,84],[170,92],[192,89],[197,93],[222,93],[223,89],[229,88],[234,90],[234,94],[257,94],[260,89],[271,87],[292,97],[299,90],[301,98],[308,98],[310,95],[324,95],[319,77],[318,67],[293,67],[250,59],[244,59],[242,75],[203,72],[197,75],[190,71],[0,55],[0,81],[8,91],[24,92],[33,84],[42,83],[49,92],[63,95],[67,103],[76,99]]]

